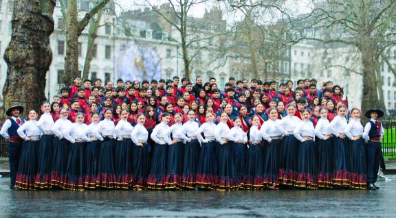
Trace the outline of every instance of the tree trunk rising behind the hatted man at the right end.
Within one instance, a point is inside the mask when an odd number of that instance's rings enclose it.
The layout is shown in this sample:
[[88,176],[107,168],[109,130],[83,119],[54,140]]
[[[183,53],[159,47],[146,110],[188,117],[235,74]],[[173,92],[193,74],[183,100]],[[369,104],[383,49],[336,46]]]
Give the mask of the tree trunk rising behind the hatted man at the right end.
[[360,49],[362,52],[362,67],[363,67],[363,95],[362,95],[362,111],[363,114],[370,110],[373,106],[382,108],[384,106],[384,99],[382,99],[377,90],[378,80],[376,76],[376,60],[375,49],[364,47]]

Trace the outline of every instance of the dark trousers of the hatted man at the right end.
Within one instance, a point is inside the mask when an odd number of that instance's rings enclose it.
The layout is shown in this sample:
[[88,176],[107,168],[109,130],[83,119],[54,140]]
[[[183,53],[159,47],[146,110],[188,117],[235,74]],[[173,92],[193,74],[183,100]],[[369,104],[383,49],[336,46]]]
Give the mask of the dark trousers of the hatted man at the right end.
[[369,141],[367,147],[367,182],[369,184],[377,182],[381,157],[381,143]]

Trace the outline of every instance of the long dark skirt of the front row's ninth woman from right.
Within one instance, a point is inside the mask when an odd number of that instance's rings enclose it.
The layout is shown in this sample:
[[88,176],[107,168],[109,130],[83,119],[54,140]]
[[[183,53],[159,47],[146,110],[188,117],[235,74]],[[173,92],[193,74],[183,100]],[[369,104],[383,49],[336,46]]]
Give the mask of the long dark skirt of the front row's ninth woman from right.
[[217,189],[231,190],[241,186],[236,175],[236,165],[232,156],[232,143],[217,144],[217,156],[219,162],[219,182]]

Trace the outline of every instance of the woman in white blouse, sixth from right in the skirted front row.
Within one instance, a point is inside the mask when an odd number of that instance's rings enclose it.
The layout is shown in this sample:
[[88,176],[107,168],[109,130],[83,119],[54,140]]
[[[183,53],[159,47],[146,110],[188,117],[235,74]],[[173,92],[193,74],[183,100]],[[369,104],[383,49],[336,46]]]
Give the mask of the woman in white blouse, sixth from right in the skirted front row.
[[270,108],[268,113],[270,119],[265,121],[260,129],[263,138],[270,143],[264,159],[264,184],[270,189],[279,189],[279,152],[281,152],[283,136],[289,133],[281,126],[276,108]]

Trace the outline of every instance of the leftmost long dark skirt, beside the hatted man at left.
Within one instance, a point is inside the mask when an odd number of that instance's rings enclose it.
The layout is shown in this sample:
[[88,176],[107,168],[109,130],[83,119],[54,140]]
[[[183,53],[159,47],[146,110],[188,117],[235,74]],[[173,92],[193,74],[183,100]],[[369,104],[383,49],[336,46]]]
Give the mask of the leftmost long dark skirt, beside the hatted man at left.
[[15,186],[18,189],[33,190],[34,176],[39,165],[40,141],[25,141],[19,157],[18,173]]

